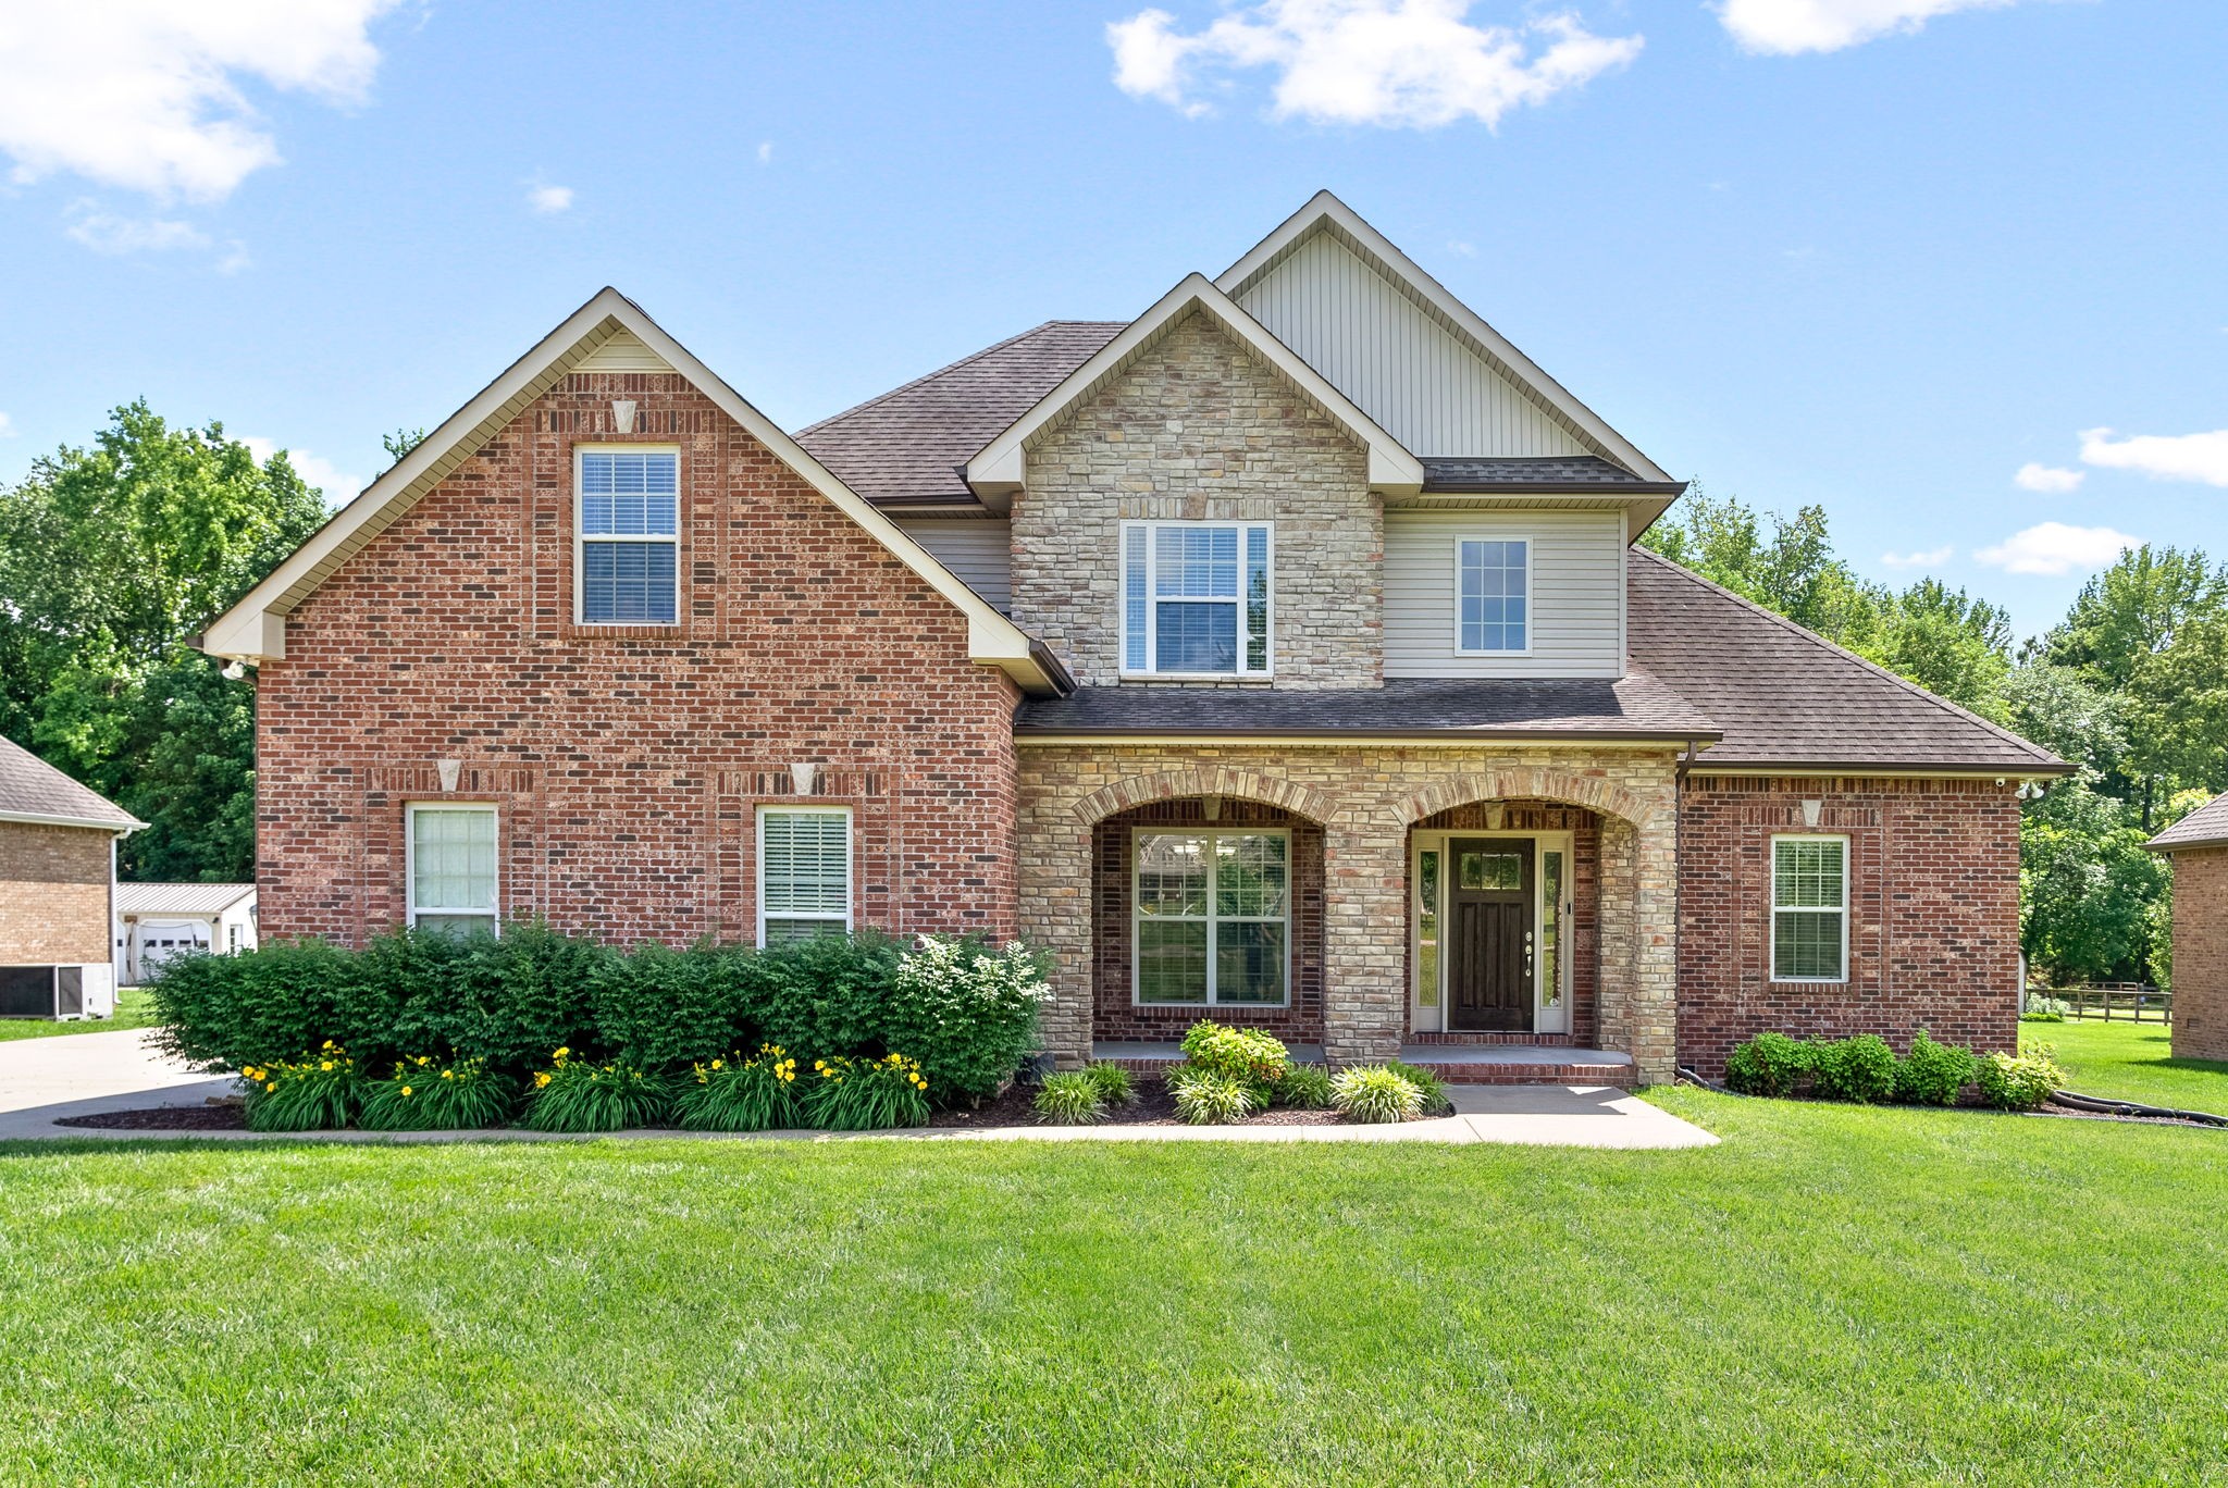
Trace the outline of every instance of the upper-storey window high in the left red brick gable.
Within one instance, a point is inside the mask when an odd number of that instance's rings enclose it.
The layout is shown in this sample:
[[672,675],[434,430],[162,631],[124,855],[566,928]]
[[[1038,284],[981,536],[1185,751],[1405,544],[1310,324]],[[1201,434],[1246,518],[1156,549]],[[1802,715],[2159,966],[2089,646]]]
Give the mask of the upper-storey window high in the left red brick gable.
[[671,626],[680,617],[682,497],[675,450],[579,450],[579,617]]

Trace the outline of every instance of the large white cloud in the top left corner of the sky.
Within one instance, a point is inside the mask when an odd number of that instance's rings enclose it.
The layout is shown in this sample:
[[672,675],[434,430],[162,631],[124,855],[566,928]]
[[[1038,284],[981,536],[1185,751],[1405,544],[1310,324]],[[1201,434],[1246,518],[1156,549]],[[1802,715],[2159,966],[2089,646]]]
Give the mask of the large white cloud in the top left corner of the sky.
[[223,200],[278,163],[241,91],[359,102],[365,27],[399,0],[67,0],[0,22],[0,151],[13,180],[74,172],[158,200]]

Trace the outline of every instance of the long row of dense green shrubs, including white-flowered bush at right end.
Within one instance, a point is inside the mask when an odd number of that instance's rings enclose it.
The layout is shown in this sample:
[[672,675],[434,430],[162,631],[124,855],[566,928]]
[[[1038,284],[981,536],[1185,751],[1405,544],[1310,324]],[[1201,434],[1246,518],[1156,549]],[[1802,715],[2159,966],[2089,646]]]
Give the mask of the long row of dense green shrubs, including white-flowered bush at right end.
[[938,1103],[996,1091],[1036,1047],[1043,998],[1043,962],[1020,944],[860,931],[764,951],[619,951],[539,922],[468,938],[392,931],[361,951],[276,940],[174,958],[154,982],[163,1047],[214,1069],[332,1040],[359,1069],[479,1060],[524,1087],[557,1049],[684,1074],[780,1045],[829,1060],[902,1054]]

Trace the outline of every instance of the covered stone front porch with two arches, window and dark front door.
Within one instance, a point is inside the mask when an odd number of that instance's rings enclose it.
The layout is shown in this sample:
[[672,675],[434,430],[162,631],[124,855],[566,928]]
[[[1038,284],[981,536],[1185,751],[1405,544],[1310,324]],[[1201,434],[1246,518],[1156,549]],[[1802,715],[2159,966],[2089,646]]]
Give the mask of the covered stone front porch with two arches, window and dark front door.
[[1667,751],[1199,753],[1103,784],[1069,771],[1105,757],[1023,760],[1023,931],[1058,958],[1063,1065],[1150,1071],[1212,1018],[1448,1083],[1671,1078]]

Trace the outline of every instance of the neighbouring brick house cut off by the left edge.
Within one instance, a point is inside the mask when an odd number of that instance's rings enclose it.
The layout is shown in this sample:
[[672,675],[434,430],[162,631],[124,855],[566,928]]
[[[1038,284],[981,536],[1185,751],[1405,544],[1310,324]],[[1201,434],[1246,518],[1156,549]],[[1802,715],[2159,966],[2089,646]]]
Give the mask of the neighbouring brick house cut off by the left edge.
[[105,1018],[116,1009],[116,840],[140,826],[0,740],[0,1018]]

